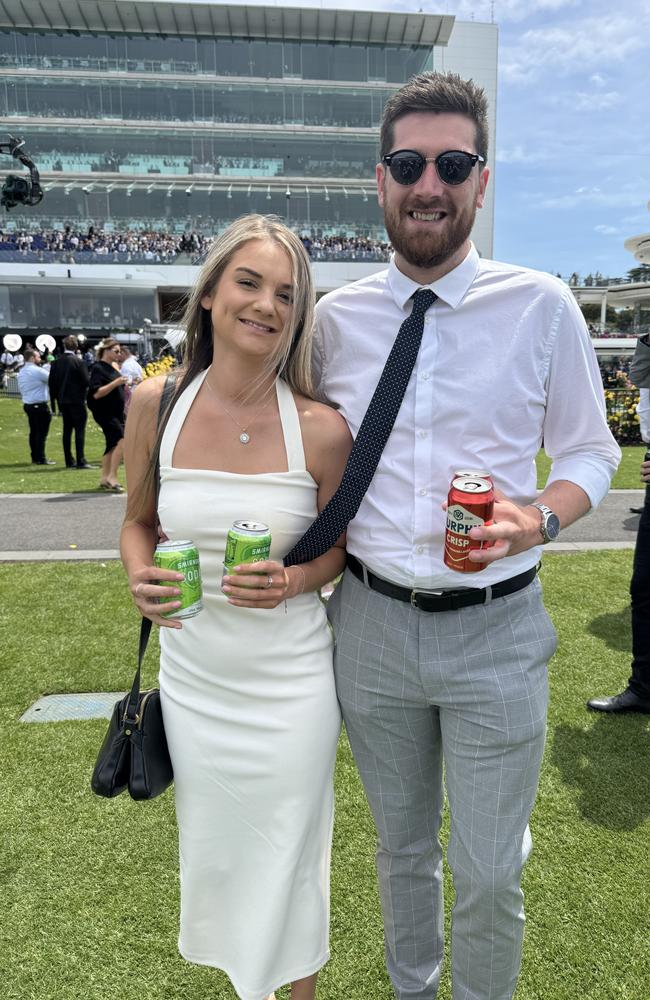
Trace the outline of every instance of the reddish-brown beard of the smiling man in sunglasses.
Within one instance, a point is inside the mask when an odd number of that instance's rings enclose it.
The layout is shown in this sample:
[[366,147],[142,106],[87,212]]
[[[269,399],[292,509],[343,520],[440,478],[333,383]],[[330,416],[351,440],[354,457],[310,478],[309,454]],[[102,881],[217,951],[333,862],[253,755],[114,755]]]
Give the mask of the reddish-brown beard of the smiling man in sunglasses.
[[[435,212],[435,208],[411,209],[411,211]],[[442,231],[428,232],[425,226],[420,233],[407,233],[402,209],[384,208],[384,225],[393,249],[412,267],[429,270],[444,264],[454,256],[469,238],[476,217],[476,205],[470,205],[455,218],[448,214]]]

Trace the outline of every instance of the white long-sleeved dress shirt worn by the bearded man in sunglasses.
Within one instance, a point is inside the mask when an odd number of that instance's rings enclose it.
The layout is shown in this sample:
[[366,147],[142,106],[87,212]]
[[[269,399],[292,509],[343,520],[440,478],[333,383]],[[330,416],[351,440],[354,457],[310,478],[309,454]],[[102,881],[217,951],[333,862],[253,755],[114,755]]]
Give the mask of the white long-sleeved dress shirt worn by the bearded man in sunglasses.
[[[324,296],[316,307],[315,385],[356,435],[410,298],[396,267]],[[430,287],[438,301],[373,482],[348,528],[348,551],[373,572],[418,589],[486,587],[534,566],[541,546],[479,573],[443,563],[456,469],[491,472],[519,504],[537,496],[542,440],[549,482],[568,479],[595,507],[620,461],[602,379],[571,291],[547,274],[465,260]]]

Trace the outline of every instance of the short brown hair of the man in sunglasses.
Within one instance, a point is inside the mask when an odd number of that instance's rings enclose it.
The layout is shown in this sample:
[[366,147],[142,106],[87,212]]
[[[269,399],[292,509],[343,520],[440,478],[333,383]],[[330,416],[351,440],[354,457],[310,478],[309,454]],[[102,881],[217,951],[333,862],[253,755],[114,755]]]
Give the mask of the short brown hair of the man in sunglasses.
[[379,135],[380,158],[390,153],[395,122],[416,112],[465,115],[474,122],[476,152],[487,160],[488,104],[485,91],[458,73],[420,73],[389,97]]

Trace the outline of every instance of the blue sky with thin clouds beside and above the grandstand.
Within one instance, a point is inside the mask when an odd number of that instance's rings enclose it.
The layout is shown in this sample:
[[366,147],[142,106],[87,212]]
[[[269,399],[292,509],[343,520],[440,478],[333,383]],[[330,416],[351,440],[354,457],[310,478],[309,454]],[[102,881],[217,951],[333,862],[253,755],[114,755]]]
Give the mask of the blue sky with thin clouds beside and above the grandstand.
[[355,6],[426,9],[464,21],[490,21],[494,10],[494,256],[562,275],[615,277],[636,266],[623,242],[650,232],[649,0],[360,0]]

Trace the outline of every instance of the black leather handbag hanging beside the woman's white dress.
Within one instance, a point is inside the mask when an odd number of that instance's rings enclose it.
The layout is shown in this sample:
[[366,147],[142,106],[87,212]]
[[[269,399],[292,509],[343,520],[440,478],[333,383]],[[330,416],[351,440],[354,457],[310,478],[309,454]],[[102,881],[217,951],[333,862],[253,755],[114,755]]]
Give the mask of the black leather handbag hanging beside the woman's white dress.
[[129,694],[115,704],[91,780],[93,792],[113,798],[128,788],[132,799],[153,799],[172,783],[174,772],[160,708],[160,691],[140,690],[140,670],[151,621],[140,626],[138,669]]

